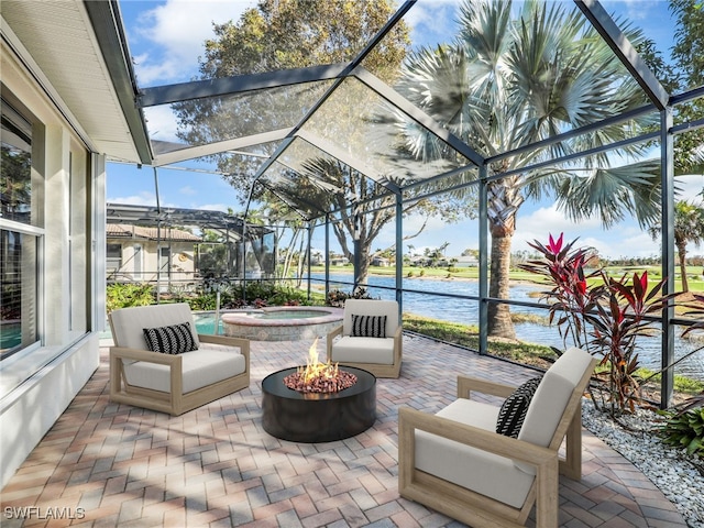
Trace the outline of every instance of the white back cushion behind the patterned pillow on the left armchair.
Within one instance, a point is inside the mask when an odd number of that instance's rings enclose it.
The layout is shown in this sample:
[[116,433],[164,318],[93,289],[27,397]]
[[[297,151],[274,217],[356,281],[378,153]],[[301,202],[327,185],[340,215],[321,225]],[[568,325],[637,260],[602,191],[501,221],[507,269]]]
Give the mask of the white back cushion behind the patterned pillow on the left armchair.
[[145,328],[168,327],[188,322],[196,348],[200,345],[190,306],[186,302],[120,308],[110,314],[110,327],[116,346],[150,350],[144,339]]

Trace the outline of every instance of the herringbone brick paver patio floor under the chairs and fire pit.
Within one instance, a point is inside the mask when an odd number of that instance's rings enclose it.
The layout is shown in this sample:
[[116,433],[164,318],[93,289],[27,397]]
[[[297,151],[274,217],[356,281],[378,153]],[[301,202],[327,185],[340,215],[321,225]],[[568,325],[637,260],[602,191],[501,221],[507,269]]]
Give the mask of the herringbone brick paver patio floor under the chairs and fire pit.
[[[2,491],[0,525],[464,526],[398,496],[398,407],[439,410],[460,372],[515,384],[535,372],[405,336],[400,378],[377,382],[376,424],[355,438],[296,444],[262,429],[261,381],[305,363],[309,346],[252,342],[250,387],[179,417],[110,403],[101,349],[98,371]],[[686,526],[628,461],[583,438],[583,479],[561,477],[561,526]]]

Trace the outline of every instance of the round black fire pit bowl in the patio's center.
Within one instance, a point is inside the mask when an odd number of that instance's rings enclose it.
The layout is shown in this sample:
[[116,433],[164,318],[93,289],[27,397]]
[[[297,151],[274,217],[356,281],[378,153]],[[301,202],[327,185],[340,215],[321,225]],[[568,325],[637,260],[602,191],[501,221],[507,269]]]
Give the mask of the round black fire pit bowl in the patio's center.
[[340,365],[356,383],[338,393],[300,393],[284,385],[297,367],[284,369],[262,381],[262,425],[273,437],[292,442],[331,442],[366,431],[376,420],[376,377]]

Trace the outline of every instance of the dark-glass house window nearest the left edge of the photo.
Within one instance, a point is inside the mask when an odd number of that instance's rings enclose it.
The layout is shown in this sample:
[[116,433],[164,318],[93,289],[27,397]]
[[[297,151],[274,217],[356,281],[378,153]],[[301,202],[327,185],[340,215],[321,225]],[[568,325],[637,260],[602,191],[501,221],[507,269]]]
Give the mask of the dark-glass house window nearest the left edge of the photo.
[[37,274],[43,231],[32,183],[32,124],[2,99],[0,143],[0,359],[38,341]]

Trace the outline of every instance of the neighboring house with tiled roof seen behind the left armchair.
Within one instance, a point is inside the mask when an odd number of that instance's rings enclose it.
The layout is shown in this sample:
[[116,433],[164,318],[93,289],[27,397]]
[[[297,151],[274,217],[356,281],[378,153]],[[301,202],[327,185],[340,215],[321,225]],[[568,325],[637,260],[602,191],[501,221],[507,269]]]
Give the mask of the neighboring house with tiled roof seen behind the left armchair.
[[107,238],[108,282],[158,282],[168,289],[195,278],[200,237],[183,229],[109,223]]

